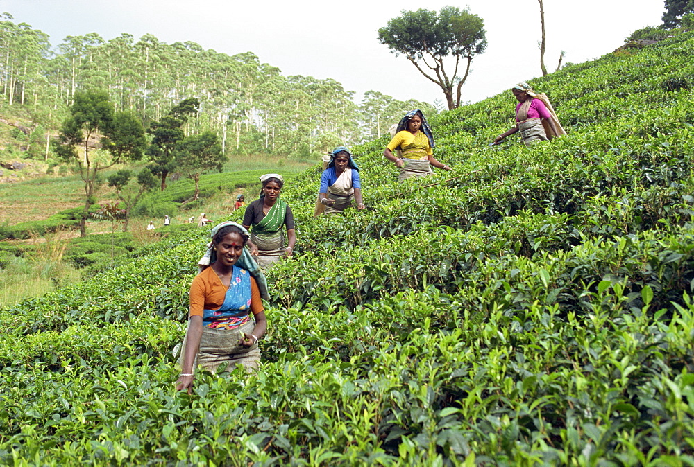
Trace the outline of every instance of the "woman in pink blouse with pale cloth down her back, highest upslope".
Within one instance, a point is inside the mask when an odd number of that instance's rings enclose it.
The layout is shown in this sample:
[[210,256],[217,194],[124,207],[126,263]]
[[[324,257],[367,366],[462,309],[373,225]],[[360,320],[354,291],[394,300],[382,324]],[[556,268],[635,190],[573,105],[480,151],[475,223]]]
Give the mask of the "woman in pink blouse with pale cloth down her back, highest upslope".
[[[525,146],[530,148],[537,141],[547,141],[555,136],[566,134],[559,124],[550,100],[545,94],[535,94],[527,82],[518,83],[511,89],[516,96],[516,127],[496,136],[494,143],[498,144],[507,136],[521,132]],[[549,108],[548,108],[549,107]]]

